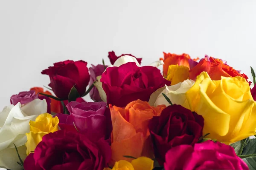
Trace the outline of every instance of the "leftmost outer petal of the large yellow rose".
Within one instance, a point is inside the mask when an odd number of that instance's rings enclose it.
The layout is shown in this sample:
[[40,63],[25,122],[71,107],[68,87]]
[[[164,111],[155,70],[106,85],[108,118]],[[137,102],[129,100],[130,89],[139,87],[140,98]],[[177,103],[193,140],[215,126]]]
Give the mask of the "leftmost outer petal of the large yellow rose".
[[195,84],[185,93],[186,98],[192,112],[195,111],[199,101],[200,101],[200,87],[199,84],[205,79],[210,78],[207,72],[201,72],[200,75],[197,76]]

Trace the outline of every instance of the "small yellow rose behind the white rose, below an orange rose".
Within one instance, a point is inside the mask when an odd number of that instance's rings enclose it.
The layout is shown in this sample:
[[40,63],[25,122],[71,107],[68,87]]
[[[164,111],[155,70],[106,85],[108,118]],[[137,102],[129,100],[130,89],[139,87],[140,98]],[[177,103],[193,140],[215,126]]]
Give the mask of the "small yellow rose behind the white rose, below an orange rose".
[[178,84],[189,78],[189,68],[186,66],[170,65],[166,80],[171,81],[171,85]]

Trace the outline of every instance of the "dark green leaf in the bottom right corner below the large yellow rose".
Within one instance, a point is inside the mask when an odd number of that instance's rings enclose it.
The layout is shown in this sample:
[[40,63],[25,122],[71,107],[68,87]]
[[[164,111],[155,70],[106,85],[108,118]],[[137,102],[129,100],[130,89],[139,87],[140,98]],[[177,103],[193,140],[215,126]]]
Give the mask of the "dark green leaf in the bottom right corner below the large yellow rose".
[[[250,139],[244,147],[241,155],[254,155],[256,154],[256,138]],[[256,170],[256,156],[243,158],[244,162],[248,165],[250,170]]]

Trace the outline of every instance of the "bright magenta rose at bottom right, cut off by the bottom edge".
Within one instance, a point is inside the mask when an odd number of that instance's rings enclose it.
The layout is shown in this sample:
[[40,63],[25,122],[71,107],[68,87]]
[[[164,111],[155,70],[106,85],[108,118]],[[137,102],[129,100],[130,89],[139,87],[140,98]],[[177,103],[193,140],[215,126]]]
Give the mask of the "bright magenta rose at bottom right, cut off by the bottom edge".
[[249,170],[233,147],[220,142],[179,145],[166,153],[165,170]]

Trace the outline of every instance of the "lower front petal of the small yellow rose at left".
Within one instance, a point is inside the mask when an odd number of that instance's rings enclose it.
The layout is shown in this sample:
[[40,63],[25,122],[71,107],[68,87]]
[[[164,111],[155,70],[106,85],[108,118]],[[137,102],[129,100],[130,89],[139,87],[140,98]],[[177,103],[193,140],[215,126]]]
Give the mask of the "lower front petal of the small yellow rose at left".
[[29,153],[31,153],[31,151],[34,151],[36,146],[39,144],[39,142],[42,141],[42,138],[44,135],[46,135],[48,133],[46,132],[39,132],[39,133],[34,133],[34,132],[29,132],[26,133],[27,136],[27,142],[26,142],[26,154],[29,155]]

